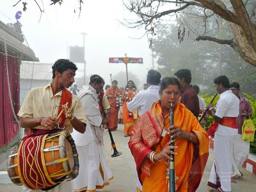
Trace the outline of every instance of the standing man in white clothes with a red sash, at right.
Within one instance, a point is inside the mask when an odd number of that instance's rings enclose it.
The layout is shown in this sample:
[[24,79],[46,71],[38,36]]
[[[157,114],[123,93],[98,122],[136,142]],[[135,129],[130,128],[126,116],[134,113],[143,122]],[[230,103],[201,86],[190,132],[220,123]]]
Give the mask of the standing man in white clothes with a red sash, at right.
[[216,77],[214,84],[216,91],[220,93],[220,99],[217,102],[216,109],[213,108],[211,103],[207,106],[216,126],[214,132],[214,164],[212,165],[208,186],[219,189],[219,191],[231,191],[232,149],[234,139],[238,134],[236,118],[239,114],[239,99],[229,90],[230,84],[226,76]]

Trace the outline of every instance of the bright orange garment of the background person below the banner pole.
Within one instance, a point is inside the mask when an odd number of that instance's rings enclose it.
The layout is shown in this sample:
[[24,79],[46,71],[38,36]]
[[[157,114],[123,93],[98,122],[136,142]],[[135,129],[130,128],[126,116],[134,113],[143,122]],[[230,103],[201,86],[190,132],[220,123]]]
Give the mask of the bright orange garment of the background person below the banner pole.
[[[132,100],[132,92],[129,92],[129,98],[131,98]],[[131,101],[129,100],[129,102]],[[136,111],[134,112],[136,113]],[[124,120],[124,134],[131,134],[133,125],[136,124],[136,120],[138,118],[138,115],[136,116],[134,113],[131,113],[128,109],[127,109],[127,100],[124,100],[124,104],[123,104],[123,120]]]

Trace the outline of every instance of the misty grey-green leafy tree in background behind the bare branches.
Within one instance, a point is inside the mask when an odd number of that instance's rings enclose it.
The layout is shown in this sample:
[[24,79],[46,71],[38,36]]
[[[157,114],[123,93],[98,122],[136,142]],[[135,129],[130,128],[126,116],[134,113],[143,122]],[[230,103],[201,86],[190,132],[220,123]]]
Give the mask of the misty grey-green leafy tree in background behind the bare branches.
[[152,51],[162,76],[173,76],[180,68],[189,68],[192,84],[200,85],[202,93],[211,95],[215,92],[213,79],[225,74],[230,81],[241,84],[242,92],[256,93],[256,68],[248,65],[233,49],[213,42],[199,43],[188,36],[180,44],[177,31],[179,26],[174,24],[157,28]]

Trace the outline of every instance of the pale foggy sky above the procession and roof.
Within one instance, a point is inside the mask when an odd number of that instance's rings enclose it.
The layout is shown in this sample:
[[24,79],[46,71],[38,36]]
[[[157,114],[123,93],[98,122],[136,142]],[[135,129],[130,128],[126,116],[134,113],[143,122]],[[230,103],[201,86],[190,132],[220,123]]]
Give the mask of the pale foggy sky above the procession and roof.
[[[15,22],[15,13],[23,8],[22,2],[13,7],[17,1],[1,1],[1,21]],[[40,10],[35,1],[27,0],[26,3],[28,10],[22,11],[19,22],[29,47],[40,62],[54,63],[60,58],[67,58],[68,46],[83,46],[81,32],[85,32],[86,76],[99,74],[109,82],[109,74],[125,71],[125,65],[110,64],[108,58],[123,57],[127,53],[127,56],[143,58],[143,65],[128,64],[128,72],[138,75],[140,88],[145,83],[147,71],[152,67],[147,36],[132,39],[141,37],[145,31],[128,29],[118,22],[135,17],[125,10],[121,0],[86,0],[79,18],[77,0],[64,0],[61,6],[50,6],[51,1],[44,1],[45,13],[42,13],[40,22]],[[38,3],[42,4],[40,0]]]

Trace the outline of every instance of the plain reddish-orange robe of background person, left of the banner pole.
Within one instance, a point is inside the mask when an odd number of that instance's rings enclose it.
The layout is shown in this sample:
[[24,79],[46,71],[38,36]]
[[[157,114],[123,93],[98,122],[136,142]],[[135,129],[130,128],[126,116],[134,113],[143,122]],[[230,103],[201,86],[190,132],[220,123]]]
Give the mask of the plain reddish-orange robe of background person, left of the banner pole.
[[118,97],[118,95],[121,95],[121,94],[122,92],[118,87],[113,88],[111,86],[110,88],[108,88],[108,90],[106,90],[107,96],[109,95],[113,96],[108,98],[108,101],[110,104],[110,113],[109,113],[108,119],[109,119],[109,129],[111,130],[117,129],[119,106],[116,107],[116,97]]

